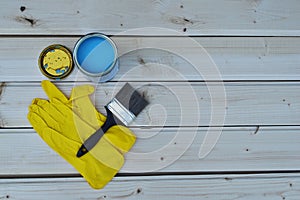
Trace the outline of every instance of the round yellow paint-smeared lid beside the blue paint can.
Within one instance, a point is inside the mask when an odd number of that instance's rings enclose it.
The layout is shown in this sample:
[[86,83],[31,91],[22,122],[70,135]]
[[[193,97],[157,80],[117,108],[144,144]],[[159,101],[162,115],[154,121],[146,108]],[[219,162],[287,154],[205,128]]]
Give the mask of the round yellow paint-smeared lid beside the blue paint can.
[[70,51],[59,44],[46,47],[40,54],[38,62],[41,72],[52,79],[65,78],[73,69]]

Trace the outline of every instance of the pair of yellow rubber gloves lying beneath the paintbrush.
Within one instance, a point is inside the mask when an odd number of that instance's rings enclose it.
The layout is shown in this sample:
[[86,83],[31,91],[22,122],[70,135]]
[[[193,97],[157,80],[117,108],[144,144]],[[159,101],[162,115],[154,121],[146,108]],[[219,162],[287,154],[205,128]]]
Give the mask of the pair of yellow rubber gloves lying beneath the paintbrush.
[[[76,87],[68,100],[52,83],[43,82],[42,85],[50,100],[33,100],[28,113],[30,123],[43,140],[72,164],[93,188],[103,188],[122,167],[123,153],[134,144],[134,134],[123,126],[111,127],[89,153],[77,158],[82,139],[93,134],[95,127],[100,127],[105,120],[88,97],[93,89],[90,86]],[[87,123],[86,120],[91,118],[88,114],[96,115],[97,120]]]

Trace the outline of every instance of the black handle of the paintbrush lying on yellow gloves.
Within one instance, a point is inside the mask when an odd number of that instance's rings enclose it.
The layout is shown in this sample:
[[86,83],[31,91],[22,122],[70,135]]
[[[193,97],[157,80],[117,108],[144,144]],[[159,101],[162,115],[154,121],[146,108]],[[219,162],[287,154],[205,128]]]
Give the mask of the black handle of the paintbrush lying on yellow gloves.
[[99,128],[93,135],[91,135],[79,148],[76,156],[80,158],[81,156],[85,155],[87,152],[89,152],[102,138],[104,133],[112,126],[116,125],[116,121],[114,119],[114,115],[110,110],[105,107],[107,112],[107,118],[104,124]]

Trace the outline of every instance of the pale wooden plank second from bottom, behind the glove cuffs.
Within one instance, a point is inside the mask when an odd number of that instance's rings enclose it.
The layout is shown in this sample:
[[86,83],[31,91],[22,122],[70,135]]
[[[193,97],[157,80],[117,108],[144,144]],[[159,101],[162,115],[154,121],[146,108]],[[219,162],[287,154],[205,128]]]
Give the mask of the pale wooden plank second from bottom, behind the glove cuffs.
[[[126,155],[120,173],[300,170],[300,127],[224,128],[215,148],[204,159],[199,159],[198,153],[206,128],[133,128],[133,131],[138,139]],[[190,138],[169,144],[176,134],[190,137],[194,131],[192,144]],[[154,153],[166,145],[176,145],[176,151],[165,148],[159,154]],[[33,130],[0,130],[0,151],[5,152],[0,154],[0,176],[78,173]]]

